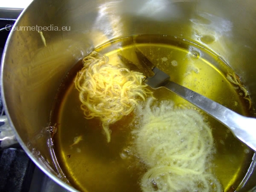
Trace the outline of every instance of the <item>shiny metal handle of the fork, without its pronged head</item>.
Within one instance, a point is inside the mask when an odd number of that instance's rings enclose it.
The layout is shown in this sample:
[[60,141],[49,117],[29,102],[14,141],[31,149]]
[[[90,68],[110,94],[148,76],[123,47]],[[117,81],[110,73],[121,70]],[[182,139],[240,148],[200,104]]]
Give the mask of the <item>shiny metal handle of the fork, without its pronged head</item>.
[[256,119],[242,116],[215,101],[202,96],[189,88],[173,81],[167,81],[163,87],[181,96],[204,112],[231,129],[231,132],[243,143],[256,151]]

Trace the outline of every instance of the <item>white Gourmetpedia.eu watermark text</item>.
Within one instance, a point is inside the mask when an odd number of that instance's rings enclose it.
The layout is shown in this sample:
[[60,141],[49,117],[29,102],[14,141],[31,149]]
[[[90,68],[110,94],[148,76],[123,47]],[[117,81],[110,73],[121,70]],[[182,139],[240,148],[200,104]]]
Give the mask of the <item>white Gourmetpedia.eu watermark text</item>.
[[53,24],[50,24],[50,26],[12,26],[10,24],[7,24],[6,26],[7,30],[13,30],[13,31],[70,31],[70,26],[54,26]]

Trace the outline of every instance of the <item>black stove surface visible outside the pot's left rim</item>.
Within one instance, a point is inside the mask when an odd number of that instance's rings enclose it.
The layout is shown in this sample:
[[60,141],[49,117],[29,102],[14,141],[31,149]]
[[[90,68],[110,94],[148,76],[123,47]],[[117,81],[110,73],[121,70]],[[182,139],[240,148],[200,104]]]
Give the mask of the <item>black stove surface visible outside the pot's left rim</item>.
[[[2,14],[2,12],[0,13]],[[6,18],[6,15],[5,18],[0,17],[0,58],[11,27],[15,22],[16,19]],[[0,96],[0,116],[2,115],[4,115],[4,110]],[[0,126],[3,124],[1,122]],[[67,191],[37,168],[25,151],[17,145],[15,148],[0,148],[0,192]]]

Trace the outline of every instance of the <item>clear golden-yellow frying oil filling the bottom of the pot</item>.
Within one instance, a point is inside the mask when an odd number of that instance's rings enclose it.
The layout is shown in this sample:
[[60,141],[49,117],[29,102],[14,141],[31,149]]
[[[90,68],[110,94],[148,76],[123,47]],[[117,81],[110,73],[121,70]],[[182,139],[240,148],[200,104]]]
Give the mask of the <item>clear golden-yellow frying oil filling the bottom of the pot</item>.
[[[96,51],[109,57],[109,63],[120,63],[117,54],[137,62],[134,47],[168,73],[171,80],[190,88],[243,115],[252,114],[242,90],[227,80],[232,74],[221,58],[190,41],[167,36],[141,35],[113,40]],[[77,189],[89,192],[140,191],[140,178],[146,168],[133,154],[131,131],[134,114],[110,126],[111,142],[106,142],[101,122],[87,120],[80,109],[74,77],[82,68],[79,62],[66,76],[52,122],[58,123],[54,136],[58,162]],[[176,105],[192,106],[165,88],[154,91],[160,100],[173,100]],[[215,138],[213,172],[224,191],[237,187],[248,169],[253,152],[241,144],[228,128],[205,115]]]

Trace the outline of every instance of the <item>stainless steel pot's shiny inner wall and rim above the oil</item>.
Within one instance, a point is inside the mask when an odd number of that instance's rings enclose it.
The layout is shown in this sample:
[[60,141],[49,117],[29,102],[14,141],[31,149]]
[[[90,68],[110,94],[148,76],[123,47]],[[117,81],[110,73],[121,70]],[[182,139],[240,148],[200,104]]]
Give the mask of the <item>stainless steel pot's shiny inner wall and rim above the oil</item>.
[[[2,59],[1,91],[9,123],[36,165],[75,191],[58,175],[44,129],[58,86],[72,64],[117,37],[182,37],[224,59],[241,75],[256,103],[255,18],[254,0],[34,0],[18,18]],[[252,159],[238,191],[253,190],[254,169]]]

